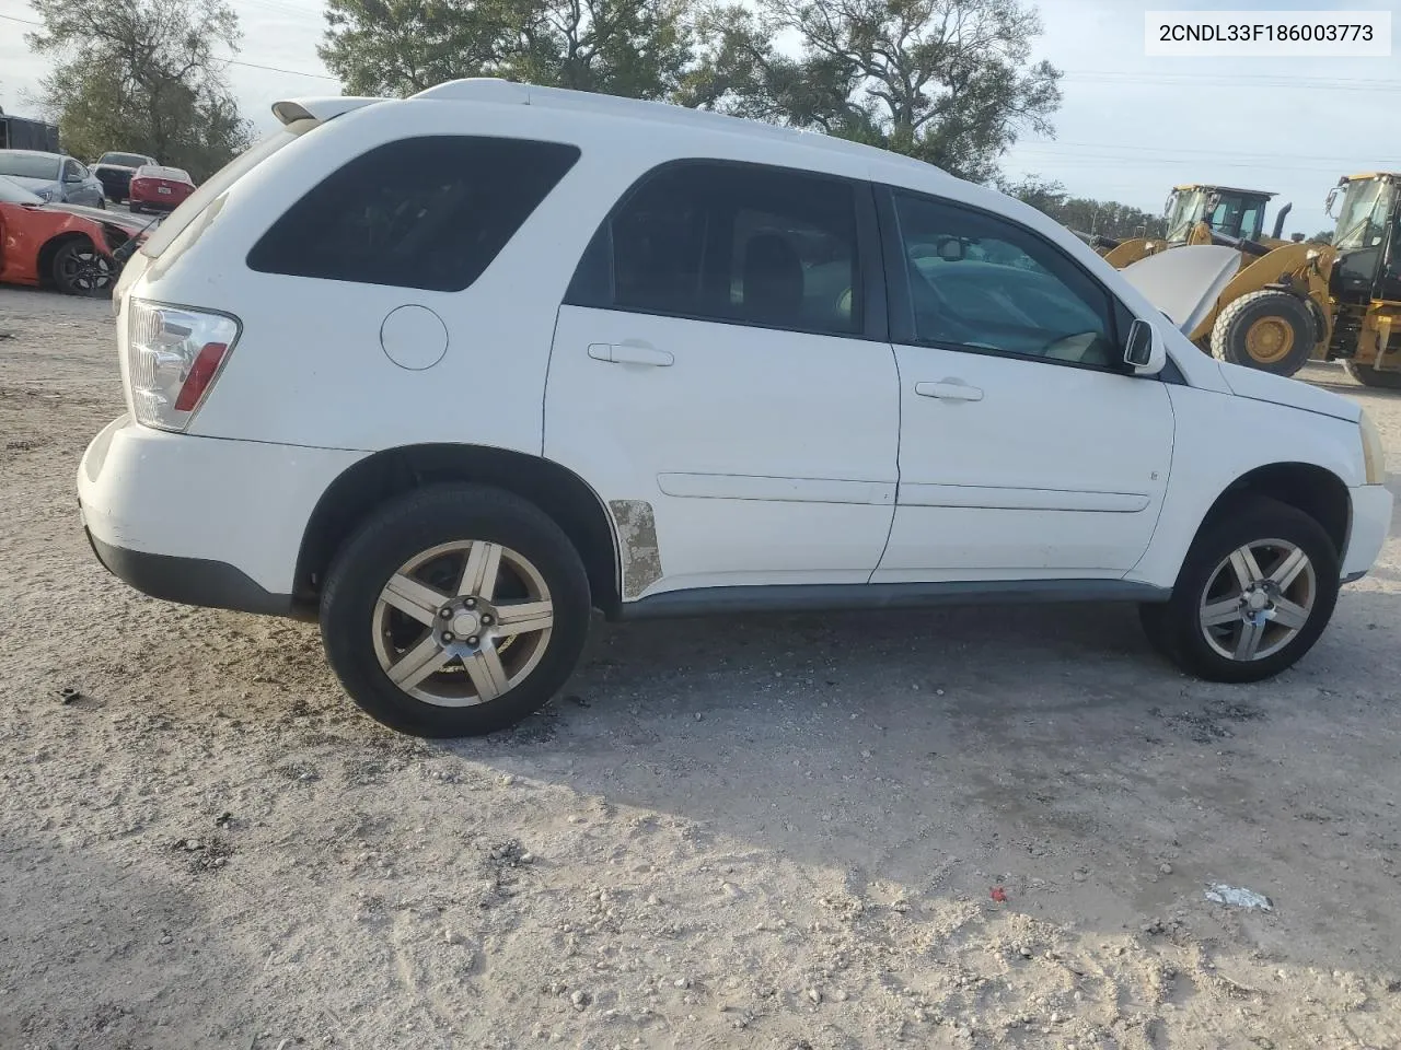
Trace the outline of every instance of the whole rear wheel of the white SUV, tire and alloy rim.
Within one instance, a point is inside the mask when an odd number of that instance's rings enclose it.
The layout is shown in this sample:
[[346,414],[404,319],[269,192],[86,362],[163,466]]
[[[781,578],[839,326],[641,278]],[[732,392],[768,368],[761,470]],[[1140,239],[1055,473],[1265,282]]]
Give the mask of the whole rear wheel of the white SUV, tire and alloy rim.
[[321,596],[346,692],[416,736],[492,732],[541,708],[573,672],[588,616],[588,580],[560,528],[472,484],[377,512],[336,554]]

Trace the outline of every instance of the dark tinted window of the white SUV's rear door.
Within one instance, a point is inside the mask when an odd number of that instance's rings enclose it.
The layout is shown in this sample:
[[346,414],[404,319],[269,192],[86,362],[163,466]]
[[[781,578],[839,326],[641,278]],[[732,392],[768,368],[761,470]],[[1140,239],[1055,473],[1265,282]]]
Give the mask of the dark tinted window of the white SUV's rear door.
[[[856,228],[855,189],[842,179],[670,164],[623,197],[570,295],[643,314],[853,335],[862,330]],[[600,279],[608,262],[611,287]]]

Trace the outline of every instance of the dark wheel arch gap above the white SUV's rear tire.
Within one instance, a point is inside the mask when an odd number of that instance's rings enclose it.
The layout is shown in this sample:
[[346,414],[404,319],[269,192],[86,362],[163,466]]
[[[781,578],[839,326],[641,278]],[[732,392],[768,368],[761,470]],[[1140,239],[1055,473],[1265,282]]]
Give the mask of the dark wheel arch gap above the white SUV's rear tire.
[[593,487],[542,456],[455,444],[384,449],[346,468],[307,519],[293,580],[294,599],[300,603],[318,599],[332,557],[378,507],[413,489],[450,482],[504,489],[545,511],[579,552],[594,605],[608,616],[616,613],[621,602],[616,535]]

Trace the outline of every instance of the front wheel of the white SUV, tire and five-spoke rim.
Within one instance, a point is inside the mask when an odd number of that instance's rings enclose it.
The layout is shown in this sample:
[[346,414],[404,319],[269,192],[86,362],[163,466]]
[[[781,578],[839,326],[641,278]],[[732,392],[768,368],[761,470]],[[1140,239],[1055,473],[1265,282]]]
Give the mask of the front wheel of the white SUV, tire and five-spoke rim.
[[1202,528],[1173,598],[1143,606],[1143,629],[1198,678],[1258,682],[1318,641],[1338,577],[1338,552],[1317,521],[1275,500],[1243,500]]

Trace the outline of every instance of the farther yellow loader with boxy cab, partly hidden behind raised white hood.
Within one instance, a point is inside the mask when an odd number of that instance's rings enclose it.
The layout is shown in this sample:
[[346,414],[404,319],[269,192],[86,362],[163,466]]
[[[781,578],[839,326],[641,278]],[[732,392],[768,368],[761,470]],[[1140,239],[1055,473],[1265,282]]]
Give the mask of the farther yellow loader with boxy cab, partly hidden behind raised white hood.
[[1240,237],[1269,246],[1290,244],[1282,241],[1281,234],[1292,204],[1285,204],[1275,216],[1274,235],[1261,235],[1265,227],[1265,206],[1274,196],[1262,189],[1209,186],[1199,182],[1174,186],[1163,209],[1167,221],[1167,232],[1163,237],[1133,237],[1121,241],[1096,235],[1089,238],[1090,246],[1111,266],[1124,269],[1166,248],[1212,244],[1212,237],[1216,234]]

